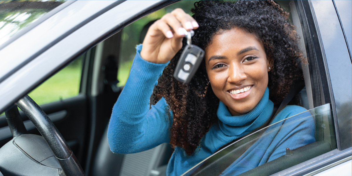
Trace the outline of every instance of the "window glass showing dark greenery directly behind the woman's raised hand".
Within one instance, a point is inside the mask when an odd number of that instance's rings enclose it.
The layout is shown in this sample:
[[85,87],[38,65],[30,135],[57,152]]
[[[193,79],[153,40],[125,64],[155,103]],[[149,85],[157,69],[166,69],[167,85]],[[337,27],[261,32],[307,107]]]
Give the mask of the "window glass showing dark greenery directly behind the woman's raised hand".
[[198,0],[177,2],[139,19],[122,30],[120,63],[117,74],[119,80],[118,86],[125,85],[130,74],[133,58],[136,55],[136,45],[143,42],[146,31],[153,21],[160,19],[164,14],[170,13],[175,8],[182,8],[186,13],[191,14],[190,8],[194,6],[193,4],[196,1]]

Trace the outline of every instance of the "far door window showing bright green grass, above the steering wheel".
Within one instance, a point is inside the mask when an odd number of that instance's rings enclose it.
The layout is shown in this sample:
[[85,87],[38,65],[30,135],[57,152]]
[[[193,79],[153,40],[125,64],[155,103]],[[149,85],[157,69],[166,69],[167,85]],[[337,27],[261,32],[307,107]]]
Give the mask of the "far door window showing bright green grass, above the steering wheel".
[[80,91],[83,55],[75,59],[28,95],[38,104],[59,101],[78,95]]

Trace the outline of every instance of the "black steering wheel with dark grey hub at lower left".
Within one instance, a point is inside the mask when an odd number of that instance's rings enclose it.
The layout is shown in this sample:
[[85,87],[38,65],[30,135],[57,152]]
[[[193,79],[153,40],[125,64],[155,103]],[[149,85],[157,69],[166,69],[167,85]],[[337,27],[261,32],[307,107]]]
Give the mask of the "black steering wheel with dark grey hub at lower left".
[[[57,130],[56,126],[52,123],[42,108],[40,108],[28,95],[25,95],[22,99],[16,102],[15,105],[17,105],[27,115],[43,137],[34,134],[24,134],[26,133],[26,129],[16,106],[13,106],[11,109],[5,111],[6,120],[10,126],[13,139],[1,147],[0,155],[9,156],[8,153],[19,151],[18,155],[20,157],[11,156],[5,159],[2,158],[6,161],[2,163],[0,162],[0,171],[3,172],[3,174],[6,173],[5,175],[22,175],[24,173],[19,174],[18,169],[13,169],[13,163],[20,163],[18,164],[20,166],[22,163],[18,160],[36,160],[34,163],[37,163],[38,166],[36,164],[30,164],[30,166],[26,167],[30,168],[30,170],[38,170],[38,173],[40,173],[42,172],[40,168],[43,168],[43,165],[47,165],[50,169],[52,169],[52,165],[56,165],[57,168],[61,166],[62,170],[58,169],[59,171],[56,171],[56,173],[51,175],[84,176],[85,174],[83,169],[78,163],[72,150],[69,148],[61,133]],[[47,144],[44,142],[43,138]],[[43,155],[44,153],[46,153],[46,155],[48,155],[47,153],[50,154],[50,150],[55,155],[56,159],[54,156],[50,157],[50,155],[49,158],[46,159],[45,157],[42,157],[44,159],[36,159],[40,158],[39,155],[41,155],[42,152]],[[30,158],[30,160],[24,158],[23,156]],[[2,159],[0,157],[0,160]],[[9,159],[14,161],[8,161]],[[40,160],[43,160],[44,164],[38,163],[41,162]],[[27,163],[28,162],[24,164],[28,165]],[[15,171],[12,172],[11,170]]]

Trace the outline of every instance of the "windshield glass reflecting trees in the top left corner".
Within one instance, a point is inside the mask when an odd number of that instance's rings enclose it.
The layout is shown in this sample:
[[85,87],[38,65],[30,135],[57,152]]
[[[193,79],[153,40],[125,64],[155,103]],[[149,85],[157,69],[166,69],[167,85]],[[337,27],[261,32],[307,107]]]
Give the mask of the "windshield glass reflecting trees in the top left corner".
[[0,45],[63,2],[0,0]]

